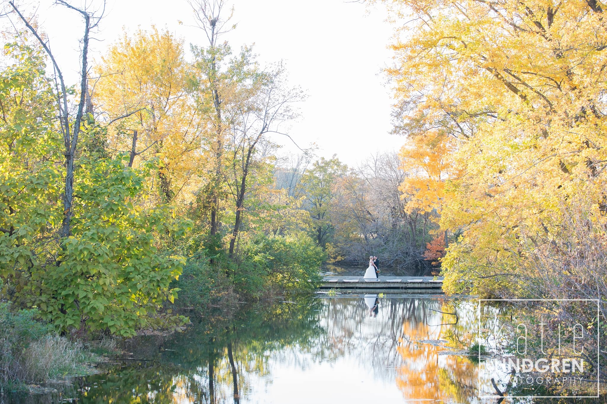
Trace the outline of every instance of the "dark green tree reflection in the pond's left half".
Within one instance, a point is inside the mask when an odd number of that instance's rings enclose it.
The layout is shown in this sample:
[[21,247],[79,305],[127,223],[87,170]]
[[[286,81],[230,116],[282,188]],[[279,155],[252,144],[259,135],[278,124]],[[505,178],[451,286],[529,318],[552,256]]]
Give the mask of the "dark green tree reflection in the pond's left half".
[[273,353],[307,346],[324,332],[321,306],[317,299],[258,304],[166,340],[140,339],[127,347],[135,360],[78,381],[78,398],[84,403],[238,404],[251,391],[251,379],[271,374]]

